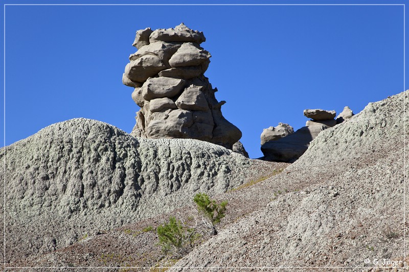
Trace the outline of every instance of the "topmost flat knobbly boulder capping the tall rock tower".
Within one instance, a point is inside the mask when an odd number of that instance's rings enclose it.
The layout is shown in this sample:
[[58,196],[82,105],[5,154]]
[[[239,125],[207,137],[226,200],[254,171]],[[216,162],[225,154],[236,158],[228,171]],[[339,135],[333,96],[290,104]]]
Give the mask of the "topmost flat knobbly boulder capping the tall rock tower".
[[174,29],[157,29],[149,36],[149,41],[167,41],[167,42],[196,42],[201,43],[206,41],[203,32],[191,30],[184,23]]

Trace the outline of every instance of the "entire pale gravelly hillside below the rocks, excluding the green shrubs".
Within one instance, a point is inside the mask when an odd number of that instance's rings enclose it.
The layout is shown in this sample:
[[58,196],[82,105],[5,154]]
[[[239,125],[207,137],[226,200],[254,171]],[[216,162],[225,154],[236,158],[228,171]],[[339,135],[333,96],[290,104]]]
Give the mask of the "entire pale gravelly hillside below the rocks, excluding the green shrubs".
[[[292,164],[95,120],[54,124],[2,150],[7,265],[370,271],[375,259],[402,260],[408,95],[370,103]],[[198,191],[227,200],[228,212],[217,236],[174,264],[155,228],[189,217]]]

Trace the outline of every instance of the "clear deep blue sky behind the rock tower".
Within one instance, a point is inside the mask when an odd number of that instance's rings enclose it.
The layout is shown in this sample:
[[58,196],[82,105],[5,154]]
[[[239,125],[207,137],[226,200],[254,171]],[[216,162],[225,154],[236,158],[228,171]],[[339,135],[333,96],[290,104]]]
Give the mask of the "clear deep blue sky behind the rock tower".
[[[358,113],[369,102],[407,88],[403,6],[6,6],[5,10],[6,145],[77,117],[130,132],[139,107],[132,101],[132,88],[122,85],[121,78],[128,56],[136,51],[131,46],[135,32],[172,28],[180,22],[205,34],[207,41],[201,45],[212,54],[205,75],[219,90],[216,98],[227,101],[223,115],[242,131],[241,141],[251,158],[262,156],[264,128],[285,122],[299,129],[308,120],[304,109],[338,114],[349,106]],[[3,110],[1,114],[3,145]]]

